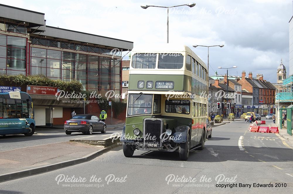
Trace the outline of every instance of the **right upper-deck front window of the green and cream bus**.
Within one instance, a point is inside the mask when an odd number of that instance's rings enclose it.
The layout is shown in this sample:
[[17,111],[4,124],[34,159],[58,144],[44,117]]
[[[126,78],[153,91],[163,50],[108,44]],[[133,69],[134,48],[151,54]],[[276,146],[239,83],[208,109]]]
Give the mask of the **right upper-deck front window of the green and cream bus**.
[[181,69],[183,55],[180,53],[160,53],[158,69]]

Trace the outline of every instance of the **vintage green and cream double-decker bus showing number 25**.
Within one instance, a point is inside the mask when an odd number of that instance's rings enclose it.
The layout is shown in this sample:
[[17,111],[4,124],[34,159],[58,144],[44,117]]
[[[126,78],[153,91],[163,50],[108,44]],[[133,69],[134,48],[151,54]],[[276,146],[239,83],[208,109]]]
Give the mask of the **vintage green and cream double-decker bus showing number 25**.
[[[171,44],[131,53],[123,153],[203,149],[206,137],[208,72],[187,46]],[[205,94],[205,95],[202,95]]]

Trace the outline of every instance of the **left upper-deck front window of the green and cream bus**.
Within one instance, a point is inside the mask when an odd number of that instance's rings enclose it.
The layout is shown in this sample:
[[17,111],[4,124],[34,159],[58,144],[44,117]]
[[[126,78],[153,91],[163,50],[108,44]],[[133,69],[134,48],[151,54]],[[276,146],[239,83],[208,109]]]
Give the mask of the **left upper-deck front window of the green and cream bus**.
[[132,56],[132,67],[134,69],[155,69],[156,53],[135,53]]

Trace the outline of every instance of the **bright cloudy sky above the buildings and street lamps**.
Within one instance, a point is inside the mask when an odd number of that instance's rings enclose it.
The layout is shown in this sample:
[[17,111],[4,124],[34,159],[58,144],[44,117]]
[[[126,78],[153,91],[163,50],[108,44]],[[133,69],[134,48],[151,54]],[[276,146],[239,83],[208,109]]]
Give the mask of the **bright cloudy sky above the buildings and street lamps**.
[[[0,0],[0,4],[45,13],[46,25],[134,42],[134,47],[166,43],[167,9],[141,5],[196,6],[169,8],[169,43],[189,46],[207,64],[207,48],[193,45],[221,45],[209,48],[209,74],[233,67],[229,74],[242,71],[263,74],[276,83],[277,67],[289,72],[289,20],[291,0],[193,0],[193,1],[35,1]],[[125,53],[126,54],[126,53]],[[124,57],[127,59],[128,55]],[[288,74],[287,74],[288,76]]]

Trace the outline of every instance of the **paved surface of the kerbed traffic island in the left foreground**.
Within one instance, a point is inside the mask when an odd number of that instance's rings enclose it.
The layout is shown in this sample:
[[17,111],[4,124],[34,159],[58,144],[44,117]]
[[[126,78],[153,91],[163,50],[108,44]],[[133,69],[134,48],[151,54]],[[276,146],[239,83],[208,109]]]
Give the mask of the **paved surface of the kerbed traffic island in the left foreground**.
[[104,148],[63,142],[0,152],[0,175],[82,158]]

